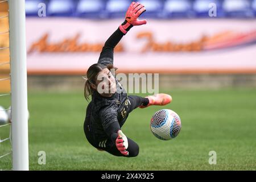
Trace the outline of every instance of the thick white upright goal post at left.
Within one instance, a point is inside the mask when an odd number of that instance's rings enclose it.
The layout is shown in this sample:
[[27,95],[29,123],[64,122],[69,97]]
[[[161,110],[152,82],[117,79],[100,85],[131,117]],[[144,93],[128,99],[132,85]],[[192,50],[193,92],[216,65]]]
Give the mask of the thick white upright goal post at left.
[[9,0],[13,170],[27,171],[27,55],[25,0]]

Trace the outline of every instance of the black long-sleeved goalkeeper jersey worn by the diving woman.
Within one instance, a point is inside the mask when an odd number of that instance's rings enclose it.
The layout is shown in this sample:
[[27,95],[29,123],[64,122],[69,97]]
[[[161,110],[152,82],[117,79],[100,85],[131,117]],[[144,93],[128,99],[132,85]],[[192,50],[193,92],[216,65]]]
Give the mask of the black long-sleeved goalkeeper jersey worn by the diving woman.
[[[124,34],[119,28],[110,36],[102,48],[98,64],[113,64],[114,47],[121,40]],[[104,140],[113,138],[121,129],[129,115],[130,101],[127,98],[126,90],[115,79],[117,92],[112,97],[103,97],[97,91],[92,94],[92,101],[88,107],[90,109],[90,130],[94,140]],[[116,138],[116,135],[115,137]],[[113,139],[114,139],[113,138]]]

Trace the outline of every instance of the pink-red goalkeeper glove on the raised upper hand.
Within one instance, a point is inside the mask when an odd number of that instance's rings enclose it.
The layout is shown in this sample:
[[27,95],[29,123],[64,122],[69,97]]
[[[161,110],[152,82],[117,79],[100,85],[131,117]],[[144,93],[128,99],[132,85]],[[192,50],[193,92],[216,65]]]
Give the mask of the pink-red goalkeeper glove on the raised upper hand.
[[125,22],[123,22],[119,29],[123,32],[123,34],[126,34],[127,31],[130,30],[133,26],[139,26],[142,24],[146,24],[146,20],[139,20],[139,16],[146,11],[144,5],[142,5],[139,2],[132,2],[129,6],[126,16],[125,16]]

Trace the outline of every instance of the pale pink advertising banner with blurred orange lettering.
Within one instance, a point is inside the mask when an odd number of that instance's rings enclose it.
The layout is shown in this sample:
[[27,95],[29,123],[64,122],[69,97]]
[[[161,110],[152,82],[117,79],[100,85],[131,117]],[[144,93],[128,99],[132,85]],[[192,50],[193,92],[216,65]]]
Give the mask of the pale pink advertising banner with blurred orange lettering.
[[[27,18],[28,74],[84,74],[122,19]],[[256,20],[148,19],[115,47],[120,72],[255,73]]]

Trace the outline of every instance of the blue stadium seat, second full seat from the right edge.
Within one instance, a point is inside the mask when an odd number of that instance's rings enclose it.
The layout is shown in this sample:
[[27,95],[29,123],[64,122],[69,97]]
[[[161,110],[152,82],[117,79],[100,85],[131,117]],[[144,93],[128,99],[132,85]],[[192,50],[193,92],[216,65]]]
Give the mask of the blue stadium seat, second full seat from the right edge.
[[222,3],[220,0],[195,0],[193,3],[193,10],[197,18],[209,18],[209,10],[213,6],[210,6],[210,3],[216,5],[217,17],[223,17]]

